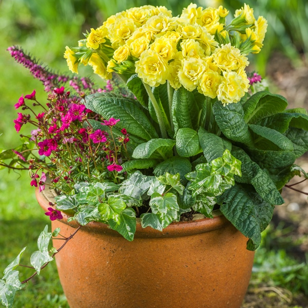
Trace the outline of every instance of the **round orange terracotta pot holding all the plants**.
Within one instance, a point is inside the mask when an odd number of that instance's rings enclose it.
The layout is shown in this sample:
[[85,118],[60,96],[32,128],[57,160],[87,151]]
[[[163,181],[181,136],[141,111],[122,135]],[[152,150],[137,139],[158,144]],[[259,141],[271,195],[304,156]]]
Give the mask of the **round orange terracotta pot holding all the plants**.
[[[44,211],[52,194],[36,191]],[[67,218],[52,222],[66,237],[76,228]],[[223,216],[172,223],[163,232],[137,221],[132,242],[91,222],[56,264],[71,308],[239,308],[254,259],[246,241]]]

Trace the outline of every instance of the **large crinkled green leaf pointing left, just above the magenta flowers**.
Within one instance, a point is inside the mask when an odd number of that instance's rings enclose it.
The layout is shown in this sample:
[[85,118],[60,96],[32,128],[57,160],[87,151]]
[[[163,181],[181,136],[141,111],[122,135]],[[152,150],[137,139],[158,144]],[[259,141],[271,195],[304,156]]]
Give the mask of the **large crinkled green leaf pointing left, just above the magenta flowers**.
[[120,130],[125,128],[129,134],[146,141],[158,138],[154,126],[133,99],[111,93],[95,93],[86,97],[86,106],[104,119],[120,119],[116,125]]

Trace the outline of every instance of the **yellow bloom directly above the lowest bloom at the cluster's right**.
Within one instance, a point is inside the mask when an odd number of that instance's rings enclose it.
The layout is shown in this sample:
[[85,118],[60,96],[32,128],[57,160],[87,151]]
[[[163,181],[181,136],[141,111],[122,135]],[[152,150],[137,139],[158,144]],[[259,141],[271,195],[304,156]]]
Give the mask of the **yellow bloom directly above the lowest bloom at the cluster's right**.
[[221,70],[237,70],[249,64],[247,57],[230,43],[217,48],[213,53],[213,60]]

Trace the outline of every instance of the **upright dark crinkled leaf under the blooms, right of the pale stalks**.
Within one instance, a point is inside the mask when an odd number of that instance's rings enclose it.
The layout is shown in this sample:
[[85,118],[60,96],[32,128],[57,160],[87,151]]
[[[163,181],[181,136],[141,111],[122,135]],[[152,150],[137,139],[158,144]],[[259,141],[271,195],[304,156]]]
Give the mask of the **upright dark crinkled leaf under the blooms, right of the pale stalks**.
[[[175,90],[172,99],[172,121],[175,127],[175,134],[179,128],[194,128],[192,123],[197,123],[199,109],[195,101],[194,94],[187,91],[184,87]],[[192,122],[194,121],[194,122]]]

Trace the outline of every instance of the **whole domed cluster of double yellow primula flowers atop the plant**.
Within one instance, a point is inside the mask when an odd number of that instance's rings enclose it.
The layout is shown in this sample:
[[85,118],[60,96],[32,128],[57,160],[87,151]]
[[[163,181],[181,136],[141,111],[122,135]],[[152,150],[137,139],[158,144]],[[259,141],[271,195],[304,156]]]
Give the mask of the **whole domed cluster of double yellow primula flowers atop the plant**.
[[102,78],[137,73],[151,87],[168,81],[175,89],[197,89],[223,104],[236,103],[249,86],[246,54],[260,51],[267,22],[262,16],[256,20],[246,4],[226,25],[228,13],[222,6],[196,4],[178,17],[162,6],[131,8],[91,29],[76,52],[67,47],[65,57],[73,72],[80,62]]

